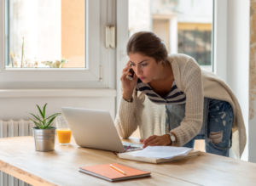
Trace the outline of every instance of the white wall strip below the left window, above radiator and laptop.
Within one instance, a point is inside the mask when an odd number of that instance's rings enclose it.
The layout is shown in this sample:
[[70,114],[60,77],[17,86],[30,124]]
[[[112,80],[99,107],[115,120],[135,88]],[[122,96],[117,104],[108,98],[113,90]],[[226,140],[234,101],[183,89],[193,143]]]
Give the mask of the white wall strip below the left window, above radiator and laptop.
[[115,97],[0,98],[0,120],[28,120],[32,116],[26,112],[39,115],[36,104],[42,108],[46,103],[47,116],[61,112],[61,106],[108,110],[113,120],[115,116]]

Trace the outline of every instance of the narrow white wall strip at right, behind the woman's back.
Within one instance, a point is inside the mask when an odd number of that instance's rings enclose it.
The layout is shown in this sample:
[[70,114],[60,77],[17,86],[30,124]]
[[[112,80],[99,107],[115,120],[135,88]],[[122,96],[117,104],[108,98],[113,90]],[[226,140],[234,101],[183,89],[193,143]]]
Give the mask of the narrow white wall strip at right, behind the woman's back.
[[[226,82],[234,91],[241,106],[247,128],[247,138],[250,135],[248,133],[249,13],[250,0],[228,0]],[[253,149],[256,150],[255,146]],[[248,161],[248,141],[241,160]]]

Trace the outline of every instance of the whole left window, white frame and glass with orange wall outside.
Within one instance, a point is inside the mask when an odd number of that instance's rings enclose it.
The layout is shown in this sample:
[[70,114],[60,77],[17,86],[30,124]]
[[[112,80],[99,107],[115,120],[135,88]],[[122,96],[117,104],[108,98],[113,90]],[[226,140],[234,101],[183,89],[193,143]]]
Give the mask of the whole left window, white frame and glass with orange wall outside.
[[[109,87],[107,7],[101,0],[1,1],[0,87]],[[61,59],[63,68],[50,68]]]

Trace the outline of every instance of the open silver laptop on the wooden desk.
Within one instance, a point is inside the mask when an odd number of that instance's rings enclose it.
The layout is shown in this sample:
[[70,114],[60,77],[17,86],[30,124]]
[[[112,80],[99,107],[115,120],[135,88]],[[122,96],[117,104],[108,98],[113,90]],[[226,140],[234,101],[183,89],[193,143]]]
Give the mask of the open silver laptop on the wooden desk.
[[143,144],[122,142],[107,110],[61,107],[73,138],[80,147],[123,152],[143,149]]

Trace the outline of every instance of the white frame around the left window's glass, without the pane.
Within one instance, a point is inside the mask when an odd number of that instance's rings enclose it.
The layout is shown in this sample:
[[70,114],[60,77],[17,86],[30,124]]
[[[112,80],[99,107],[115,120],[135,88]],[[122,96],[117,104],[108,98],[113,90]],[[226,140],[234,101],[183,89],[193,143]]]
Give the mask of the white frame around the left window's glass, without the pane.
[[[104,54],[101,48],[100,0],[85,1],[85,58],[86,69],[5,69],[5,1],[0,2],[0,87],[1,88],[82,88],[108,87],[108,60],[101,60]],[[107,11],[107,9],[105,10]],[[7,50],[8,51],[8,50]],[[104,58],[103,58],[104,59]],[[102,69],[102,66],[106,68]],[[104,74],[104,78],[102,78]]]

